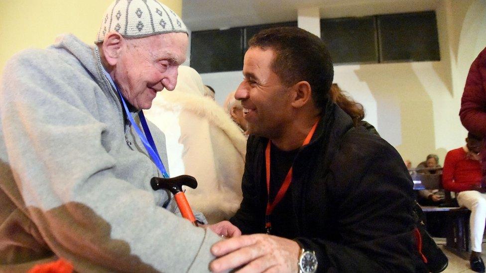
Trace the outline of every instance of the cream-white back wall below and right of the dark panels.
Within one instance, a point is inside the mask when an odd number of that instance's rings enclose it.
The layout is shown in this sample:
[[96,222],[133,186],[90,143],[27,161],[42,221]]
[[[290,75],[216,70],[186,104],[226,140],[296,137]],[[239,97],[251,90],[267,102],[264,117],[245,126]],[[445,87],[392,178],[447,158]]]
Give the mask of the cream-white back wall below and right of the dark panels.
[[[441,61],[335,66],[334,82],[365,106],[365,119],[413,165],[430,153],[442,164],[448,150],[464,145],[461,95],[486,46],[486,1],[443,0],[436,14]],[[243,80],[241,71],[201,77],[221,105]]]

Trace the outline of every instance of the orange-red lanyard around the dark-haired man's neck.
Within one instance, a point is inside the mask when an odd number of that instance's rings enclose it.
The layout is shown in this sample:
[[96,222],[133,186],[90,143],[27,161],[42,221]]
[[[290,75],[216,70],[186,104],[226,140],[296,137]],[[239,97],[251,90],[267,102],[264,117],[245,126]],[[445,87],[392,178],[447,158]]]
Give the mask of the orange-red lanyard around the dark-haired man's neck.
[[[304,143],[302,143],[302,146],[309,144],[312,135],[314,135],[314,132],[316,131],[318,122],[319,120],[317,120],[314,126],[312,126],[312,129],[307,134],[307,137],[305,138]],[[270,203],[270,146],[271,146],[270,140],[268,140],[268,144],[266,145],[266,149],[265,149],[266,190],[268,192],[268,202],[266,204],[266,212],[265,212],[265,228],[267,234],[270,234],[270,230],[272,228],[272,223],[270,222],[270,214],[272,214],[272,211],[275,208],[275,206],[282,200],[283,196],[285,195],[285,192],[287,192],[287,189],[290,186],[290,182],[292,182],[292,169],[293,169],[293,167],[290,167],[290,170],[287,173],[287,176],[285,177],[283,184],[280,186],[280,189],[277,192],[277,196],[275,196],[273,202]]]

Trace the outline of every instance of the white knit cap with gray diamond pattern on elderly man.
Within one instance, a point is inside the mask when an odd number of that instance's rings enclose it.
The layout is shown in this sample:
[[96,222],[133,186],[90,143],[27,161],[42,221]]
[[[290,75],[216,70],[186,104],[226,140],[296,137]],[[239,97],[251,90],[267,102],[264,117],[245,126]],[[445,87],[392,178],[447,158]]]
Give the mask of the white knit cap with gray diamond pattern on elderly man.
[[111,31],[123,37],[146,37],[170,32],[187,33],[182,19],[157,0],[115,0],[105,12],[95,43]]

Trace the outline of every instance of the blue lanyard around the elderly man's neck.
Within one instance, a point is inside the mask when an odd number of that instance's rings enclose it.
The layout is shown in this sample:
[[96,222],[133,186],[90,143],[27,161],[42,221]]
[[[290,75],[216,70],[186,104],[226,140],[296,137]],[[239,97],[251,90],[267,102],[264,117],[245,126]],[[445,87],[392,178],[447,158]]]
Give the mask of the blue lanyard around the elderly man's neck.
[[148,128],[147,121],[145,120],[145,116],[143,115],[143,111],[140,110],[138,112],[138,117],[140,118],[140,123],[142,124],[143,132],[145,133],[145,135],[143,135],[140,128],[138,128],[137,124],[133,120],[131,113],[128,111],[128,107],[126,106],[126,102],[122,96],[122,93],[118,90],[117,85],[115,85],[112,77],[110,76],[110,74],[108,74],[108,72],[104,67],[103,67],[103,72],[105,73],[105,76],[107,77],[108,81],[110,81],[110,83],[112,84],[113,88],[115,88],[115,90],[120,95],[120,98],[122,98],[123,108],[125,108],[126,116],[128,117],[128,120],[130,120],[130,123],[133,125],[133,129],[135,129],[138,136],[140,137],[140,140],[142,141],[143,146],[145,146],[145,149],[147,150],[148,154],[152,158],[152,161],[160,170],[162,176],[164,178],[169,178],[167,171],[165,171],[164,164],[162,163],[162,160],[160,160],[159,152],[157,151],[157,147],[155,146],[155,142],[153,141],[152,134],[150,134],[150,130]]

